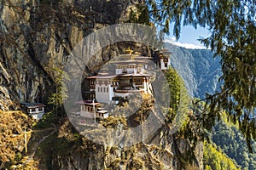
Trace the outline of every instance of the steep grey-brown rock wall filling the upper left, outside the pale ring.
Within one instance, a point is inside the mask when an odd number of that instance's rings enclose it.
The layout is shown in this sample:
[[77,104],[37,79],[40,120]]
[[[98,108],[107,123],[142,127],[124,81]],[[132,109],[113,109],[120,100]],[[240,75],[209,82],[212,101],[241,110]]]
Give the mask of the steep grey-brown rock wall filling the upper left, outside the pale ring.
[[[52,3],[50,3],[52,2]],[[0,4],[0,82],[3,101],[45,102],[53,68],[91,31],[128,20],[137,1],[8,1]],[[98,56],[99,61],[106,55]],[[108,56],[109,57],[109,56]],[[14,105],[15,106],[15,105]]]

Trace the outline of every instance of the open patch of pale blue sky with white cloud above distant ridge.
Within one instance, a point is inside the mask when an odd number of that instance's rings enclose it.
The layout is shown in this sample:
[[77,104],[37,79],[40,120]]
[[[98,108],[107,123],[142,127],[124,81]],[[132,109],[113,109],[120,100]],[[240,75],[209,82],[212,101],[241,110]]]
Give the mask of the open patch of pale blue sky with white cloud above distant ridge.
[[[170,26],[171,28],[173,26]],[[170,42],[174,45],[181,46],[183,48],[206,48],[197,39],[200,37],[209,37],[207,29],[198,27],[196,30],[192,26],[184,26],[181,29],[180,38],[176,41],[176,37],[170,35],[165,37],[165,42]]]

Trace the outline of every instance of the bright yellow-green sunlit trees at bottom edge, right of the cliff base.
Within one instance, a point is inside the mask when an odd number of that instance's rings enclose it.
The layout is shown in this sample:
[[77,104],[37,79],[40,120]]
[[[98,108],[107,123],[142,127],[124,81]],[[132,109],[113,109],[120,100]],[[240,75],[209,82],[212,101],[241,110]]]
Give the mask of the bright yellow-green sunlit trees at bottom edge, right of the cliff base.
[[221,150],[217,150],[212,144],[204,142],[204,167],[205,169],[236,170],[235,163],[225,156]]

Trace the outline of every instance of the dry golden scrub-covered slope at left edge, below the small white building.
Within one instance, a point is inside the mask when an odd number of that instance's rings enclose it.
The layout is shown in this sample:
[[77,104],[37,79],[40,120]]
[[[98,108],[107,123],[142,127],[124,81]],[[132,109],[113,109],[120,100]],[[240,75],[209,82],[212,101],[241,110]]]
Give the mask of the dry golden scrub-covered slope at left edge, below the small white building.
[[32,134],[32,118],[21,111],[0,111],[0,168],[22,158]]

